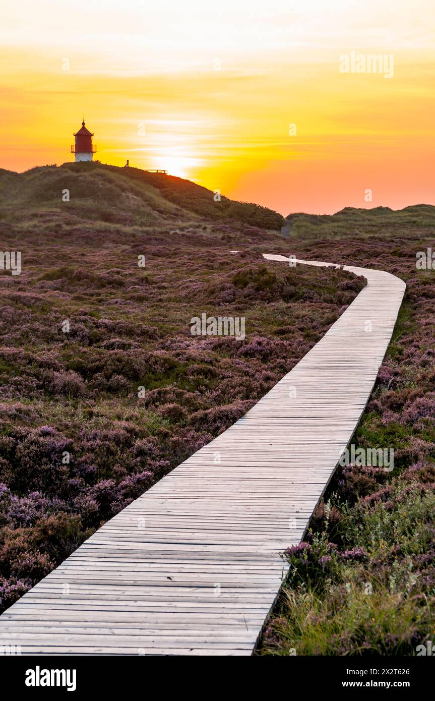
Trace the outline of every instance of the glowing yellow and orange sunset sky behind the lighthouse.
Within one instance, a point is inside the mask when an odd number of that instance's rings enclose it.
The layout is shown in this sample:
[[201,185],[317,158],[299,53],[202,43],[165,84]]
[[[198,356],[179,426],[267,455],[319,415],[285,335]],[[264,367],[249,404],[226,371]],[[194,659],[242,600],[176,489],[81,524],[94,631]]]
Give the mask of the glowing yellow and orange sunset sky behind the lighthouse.
[[435,204],[433,0],[2,5],[0,168],[72,161],[84,114],[102,163],[284,215]]

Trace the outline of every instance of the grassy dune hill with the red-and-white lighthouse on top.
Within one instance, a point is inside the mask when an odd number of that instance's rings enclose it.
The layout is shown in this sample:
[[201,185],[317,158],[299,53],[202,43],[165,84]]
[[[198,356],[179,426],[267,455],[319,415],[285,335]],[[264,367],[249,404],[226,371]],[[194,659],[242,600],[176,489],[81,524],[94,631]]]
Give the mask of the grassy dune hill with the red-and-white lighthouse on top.
[[[69,201],[63,201],[64,191]],[[23,213],[63,212],[87,221],[147,225],[162,220],[233,220],[262,229],[279,229],[282,215],[261,205],[237,202],[190,180],[117,168],[102,163],[64,163],[24,173],[0,170],[0,217],[17,222]]]

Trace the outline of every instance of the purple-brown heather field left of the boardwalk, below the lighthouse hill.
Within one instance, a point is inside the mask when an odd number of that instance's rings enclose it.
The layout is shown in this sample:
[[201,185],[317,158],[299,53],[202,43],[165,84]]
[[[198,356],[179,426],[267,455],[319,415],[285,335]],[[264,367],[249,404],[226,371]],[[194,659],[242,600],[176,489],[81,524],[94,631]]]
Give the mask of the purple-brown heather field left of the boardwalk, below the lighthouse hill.
[[[266,263],[280,239],[237,222],[56,217],[1,231],[23,271],[0,275],[0,608],[237,421],[364,285]],[[246,316],[246,338],[193,337],[202,312]]]

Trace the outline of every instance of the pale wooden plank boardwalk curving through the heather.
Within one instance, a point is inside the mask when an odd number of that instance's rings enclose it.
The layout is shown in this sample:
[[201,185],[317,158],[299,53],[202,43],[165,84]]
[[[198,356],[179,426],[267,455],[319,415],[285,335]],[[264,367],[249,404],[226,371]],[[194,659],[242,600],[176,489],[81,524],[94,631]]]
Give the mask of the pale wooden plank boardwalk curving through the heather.
[[8,608],[0,645],[26,655],[251,655],[285,574],[279,553],[303,538],[352,438],[406,287],[345,269],[368,285],[321,341]]

